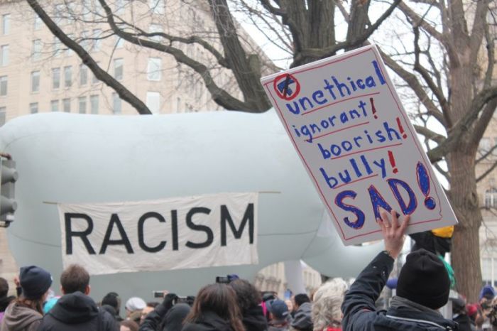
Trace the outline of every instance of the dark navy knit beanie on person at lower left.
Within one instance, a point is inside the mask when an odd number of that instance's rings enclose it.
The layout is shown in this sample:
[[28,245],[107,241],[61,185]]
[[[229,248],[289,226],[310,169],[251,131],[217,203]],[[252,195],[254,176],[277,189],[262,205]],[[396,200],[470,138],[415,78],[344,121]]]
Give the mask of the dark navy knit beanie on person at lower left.
[[23,266],[19,273],[19,283],[26,299],[39,299],[52,285],[52,276],[39,266]]

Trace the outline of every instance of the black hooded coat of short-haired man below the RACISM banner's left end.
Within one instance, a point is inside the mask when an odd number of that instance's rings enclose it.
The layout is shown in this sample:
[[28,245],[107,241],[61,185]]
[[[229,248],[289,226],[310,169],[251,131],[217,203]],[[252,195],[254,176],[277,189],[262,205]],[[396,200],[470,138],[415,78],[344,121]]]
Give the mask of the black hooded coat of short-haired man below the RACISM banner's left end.
[[75,292],[57,301],[38,331],[119,331],[119,324],[88,295]]

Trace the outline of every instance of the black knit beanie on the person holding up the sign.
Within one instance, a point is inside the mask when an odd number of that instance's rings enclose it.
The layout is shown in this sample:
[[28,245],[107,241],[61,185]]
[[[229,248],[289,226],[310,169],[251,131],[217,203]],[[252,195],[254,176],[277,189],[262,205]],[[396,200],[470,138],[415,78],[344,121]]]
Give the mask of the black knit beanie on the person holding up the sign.
[[438,256],[425,249],[408,255],[398,276],[398,296],[438,309],[449,300],[449,291],[449,274]]

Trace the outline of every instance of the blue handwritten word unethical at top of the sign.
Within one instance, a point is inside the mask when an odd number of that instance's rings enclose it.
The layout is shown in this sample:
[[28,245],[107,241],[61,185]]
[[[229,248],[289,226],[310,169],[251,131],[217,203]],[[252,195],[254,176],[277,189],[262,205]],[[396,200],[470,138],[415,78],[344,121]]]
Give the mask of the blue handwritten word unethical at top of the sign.
[[297,100],[287,102],[285,105],[292,114],[305,114],[310,110],[328,104],[330,99],[335,101],[353,94],[359,94],[366,89],[371,89],[378,85],[385,85],[386,80],[381,73],[376,61],[371,62],[373,74],[364,78],[346,77],[346,81],[340,81],[336,76],[331,75],[330,80],[324,80],[324,86],[310,93],[307,97],[299,97]]

